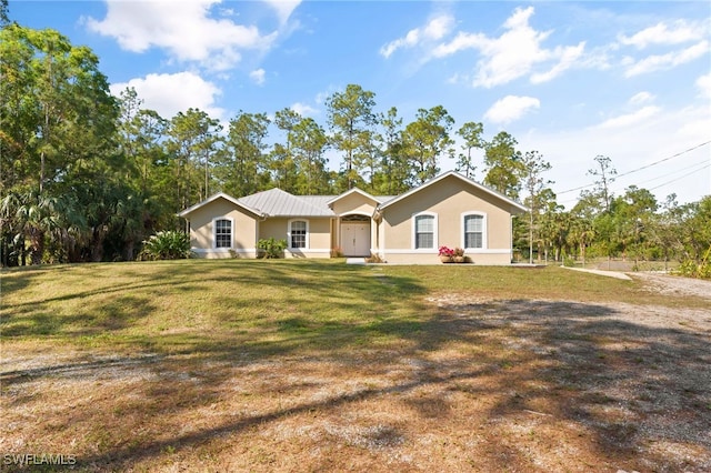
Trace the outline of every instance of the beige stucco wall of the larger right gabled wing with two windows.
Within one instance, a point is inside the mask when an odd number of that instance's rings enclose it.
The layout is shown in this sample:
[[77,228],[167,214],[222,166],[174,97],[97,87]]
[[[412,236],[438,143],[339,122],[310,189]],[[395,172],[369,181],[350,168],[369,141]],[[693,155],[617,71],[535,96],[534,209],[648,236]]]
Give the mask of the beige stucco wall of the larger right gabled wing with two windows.
[[[412,195],[387,207],[379,225],[379,253],[393,263],[437,263],[437,246],[463,246],[462,214],[479,212],[485,217],[485,248],[467,250],[480,264],[511,262],[511,215],[509,204],[455,177],[445,178]],[[437,215],[434,249],[413,246],[413,215]]]

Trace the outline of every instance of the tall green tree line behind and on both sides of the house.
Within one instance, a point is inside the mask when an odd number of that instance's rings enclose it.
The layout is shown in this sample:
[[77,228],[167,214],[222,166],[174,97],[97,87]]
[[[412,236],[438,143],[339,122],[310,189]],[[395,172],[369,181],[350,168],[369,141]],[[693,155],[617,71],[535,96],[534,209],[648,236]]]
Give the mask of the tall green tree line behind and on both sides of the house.
[[[530,212],[515,221],[515,244],[530,261],[699,259],[711,240],[705,201],[660,205],[637,188],[612,195],[607,157],[593,160],[594,191],[564,211],[544,175],[550,163],[519,150],[511,134],[487,139],[478,122],[455,128],[442,105],[405,123],[394,107],[379,112],[375,93],[358,84],[327,99],[326,125],[291,109],[239,111],[227,123],[198,109],[161,117],[133,89],[112,97],[88,48],[0,11],[2,265],[131,260],[150,234],[182,228],[179,211],[219,191],[359,187],[394,195],[438,175],[443,160],[472,179],[481,169],[485,185],[524,201]],[[329,165],[329,152],[340,161]]]

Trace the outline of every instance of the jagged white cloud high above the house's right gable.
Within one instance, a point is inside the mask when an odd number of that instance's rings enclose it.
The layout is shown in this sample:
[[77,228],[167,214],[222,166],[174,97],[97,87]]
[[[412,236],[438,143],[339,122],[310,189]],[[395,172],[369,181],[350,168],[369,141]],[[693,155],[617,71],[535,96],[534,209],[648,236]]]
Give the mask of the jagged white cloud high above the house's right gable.
[[542,48],[552,31],[537,31],[529,24],[533,7],[517,8],[504,22],[505,31],[498,38],[483,33],[460,32],[448,42],[437,46],[431,56],[443,58],[467,49],[477,49],[481,54],[477,63],[474,87],[491,88],[528,76],[538,64],[553,63],[545,72],[533,73],[531,81],[545,82],[560,76],[567,69],[584,62],[581,58],[585,42],[577,46]]

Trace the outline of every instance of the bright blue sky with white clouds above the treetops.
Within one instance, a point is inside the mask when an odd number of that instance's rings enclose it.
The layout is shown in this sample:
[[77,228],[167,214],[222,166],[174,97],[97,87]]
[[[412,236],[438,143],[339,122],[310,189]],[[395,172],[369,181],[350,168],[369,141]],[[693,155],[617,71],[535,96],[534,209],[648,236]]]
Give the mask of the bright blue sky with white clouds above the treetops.
[[[662,1],[18,1],[10,18],[90,47],[114,93],[224,124],[292,108],[324,128],[349,83],[404,122],[443,105],[539,151],[567,208],[607,155],[658,200],[711,194],[711,3]],[[481,153],[478,155],[481,157]],[[332,157],[336,161],[336,157]],[[443,170],[453,161],[442,159]],[[479,164],[475,179],[483,179]]]

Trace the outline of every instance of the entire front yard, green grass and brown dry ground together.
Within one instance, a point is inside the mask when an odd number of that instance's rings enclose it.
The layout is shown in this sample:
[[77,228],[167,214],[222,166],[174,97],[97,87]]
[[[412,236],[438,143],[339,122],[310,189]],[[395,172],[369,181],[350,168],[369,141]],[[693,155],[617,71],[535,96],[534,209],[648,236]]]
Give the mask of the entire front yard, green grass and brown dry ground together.
[[663,425],[711,425],[709,301],[639,281],[190,260],[6,270],[1,290],[3,471],[711,467],[708,434]]

